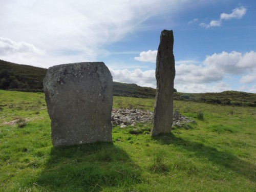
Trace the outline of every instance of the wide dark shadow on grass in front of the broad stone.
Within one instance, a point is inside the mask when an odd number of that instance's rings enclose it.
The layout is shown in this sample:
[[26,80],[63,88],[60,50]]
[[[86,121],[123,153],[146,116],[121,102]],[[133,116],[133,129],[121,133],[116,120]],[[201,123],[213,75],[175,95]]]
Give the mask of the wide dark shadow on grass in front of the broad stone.
[[49,191],[132,190],[141,172],[129,155],[113,143],[99,142],[65,148],[52,147],[37,183]]

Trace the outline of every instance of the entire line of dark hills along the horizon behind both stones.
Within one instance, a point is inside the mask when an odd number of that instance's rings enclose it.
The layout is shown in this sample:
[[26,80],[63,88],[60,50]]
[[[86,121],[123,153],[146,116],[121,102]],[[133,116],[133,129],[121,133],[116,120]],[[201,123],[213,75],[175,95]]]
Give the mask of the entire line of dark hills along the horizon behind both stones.
[[[47,69],[18,65],[0,60],[0,89],[26,92],[42,92],[42,80]],[[113,82],[113,95],[138,98],[155,98],[156,90],[137,84]],[[256,107],[256,94],[224,91],[222,93],[179,93],[175,90],[174,100]]]

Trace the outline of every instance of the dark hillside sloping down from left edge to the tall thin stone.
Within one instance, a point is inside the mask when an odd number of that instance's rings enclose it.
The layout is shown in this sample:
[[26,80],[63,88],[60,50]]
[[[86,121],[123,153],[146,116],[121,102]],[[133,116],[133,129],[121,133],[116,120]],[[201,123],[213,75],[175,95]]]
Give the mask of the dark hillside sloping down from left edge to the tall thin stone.
[[[0,60],[0,89],[42,92],[42,80],[47,69],[28,65],[19,65]],[[113,82],[113,95],[139,98],[154,98],[156,90],[140,87],[137,84]]]

